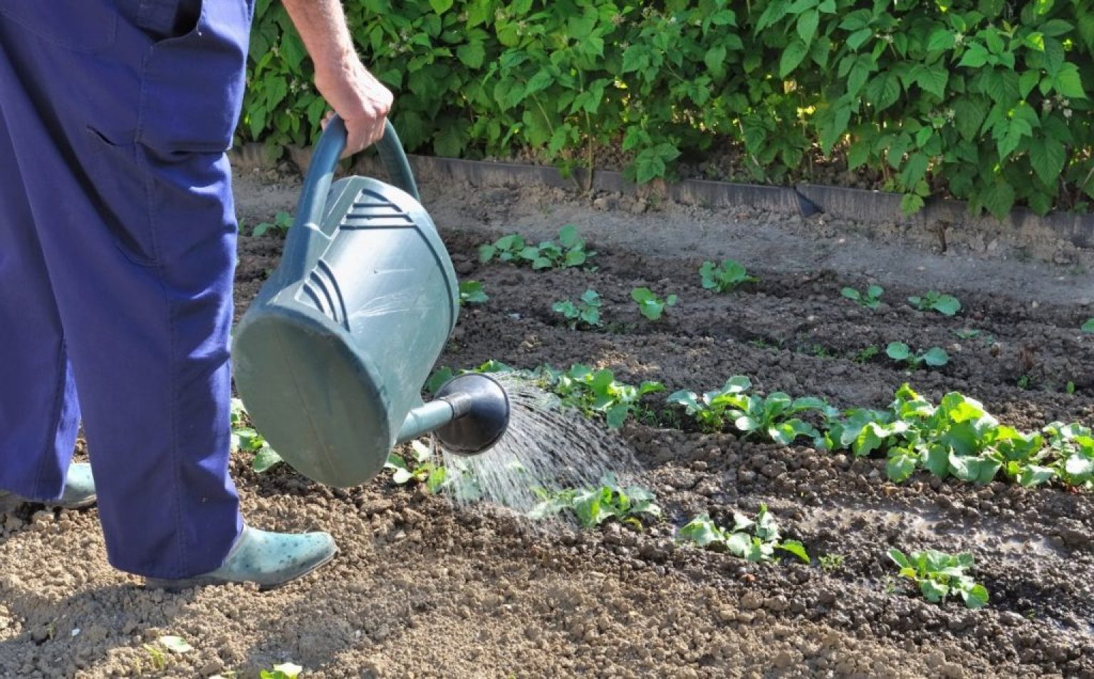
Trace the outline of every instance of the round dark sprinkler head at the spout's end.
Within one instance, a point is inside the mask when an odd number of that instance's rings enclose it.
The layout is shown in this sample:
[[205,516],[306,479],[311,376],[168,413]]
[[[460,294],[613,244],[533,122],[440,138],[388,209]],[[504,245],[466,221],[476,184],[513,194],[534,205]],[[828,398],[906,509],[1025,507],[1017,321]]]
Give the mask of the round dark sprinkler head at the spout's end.
[[453,377],[438,389],[438,400],[447,401],[455,417],[433,431],[441,446],[456,455],[479,455],[501,440],[509,428],[509,395],[487,375],[468,373]]

